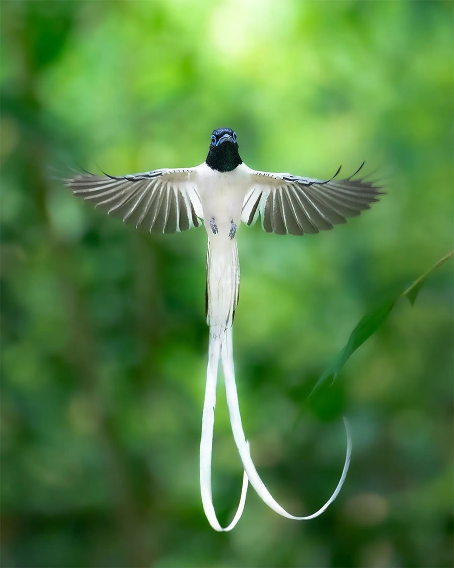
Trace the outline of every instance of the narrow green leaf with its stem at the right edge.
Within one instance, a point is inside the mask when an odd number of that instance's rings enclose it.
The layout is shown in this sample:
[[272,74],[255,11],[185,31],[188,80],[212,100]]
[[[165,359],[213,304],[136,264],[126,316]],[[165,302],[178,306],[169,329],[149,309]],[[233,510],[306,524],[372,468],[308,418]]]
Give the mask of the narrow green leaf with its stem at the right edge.
[[434,270],[436,270],[444,262],[446,262],[448,258],[451,258],[453,254],[454,250],[451,250],[451,252],[446,254],[446,256],[440,258],[440,260],[436,262],[436,264],[434,264],[434,266],[432,266],[430,270],[427,270],[427,272],[422,274],[419,278],[416,278],[416,280],[409,287],[407,287],[403,291],[402,287],[400,287],[393,295],[388,296],[386,300],[384,300],[373,310],[368,312],[368,314],[366,314],[364,318],[361,319],[359,324],[356,325],[355,329],[353,329],[344,348],[340,350],[334,360],[332,360],[331,363],[323,371],[323,374],[315,383],[307,398],[312,396],[314,392],[318,390],[328,378],[332,377],[332,382],[335,381],[338,374],[340,373],[340,370],[348,361],[349,357],[351,357],[351,355],[355,353],[356,349],[363,345],[364,341],[369,339],[369,337],[377,331],[377,329],[385,321],[385,319],[388,318],[395,302],[397,302],[399,297],[406,296],[406,298],[410,300],[410,303],[413,306],[416,296],[418,295],[419,290],[422,288],[428,275],[434,272]]

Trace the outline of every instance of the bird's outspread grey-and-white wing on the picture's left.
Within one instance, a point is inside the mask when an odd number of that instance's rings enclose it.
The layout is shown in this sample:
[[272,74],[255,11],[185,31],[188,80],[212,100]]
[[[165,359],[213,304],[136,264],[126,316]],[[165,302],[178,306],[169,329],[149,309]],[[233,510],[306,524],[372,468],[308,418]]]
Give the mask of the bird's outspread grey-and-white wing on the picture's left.
[[195,168],[161,169],[131,176],[95,176],[87,172],[63,181],[74,195],[136,228],[174,233],[201,224],[202,206],[194,172]]

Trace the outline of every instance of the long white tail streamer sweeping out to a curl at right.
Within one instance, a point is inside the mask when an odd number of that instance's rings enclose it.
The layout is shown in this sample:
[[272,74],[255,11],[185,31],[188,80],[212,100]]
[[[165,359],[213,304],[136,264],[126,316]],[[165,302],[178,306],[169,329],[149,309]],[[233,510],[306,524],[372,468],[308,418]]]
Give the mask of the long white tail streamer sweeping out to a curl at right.
[[285,511],[285,509],[282,508],[280,504],[276,502],[276,500],[274,500],[273,496],[270,494],[268,489],[265,487],[263,481],[260,479],[260,476],[257,473],[257,470],[251,458],[251,453],[249,451],[249,444],[244,437],[243,426],[241,425],[238,394],[236,392],[236,384],[235,384],[235,370],[234,370],[234,360],[232,353],[232,328],[227,329],[226,332],[224,333],[222,339],[221,358],[222,358],[224,383],[226,386],[227,404],[228,404],[228,411],[230,413],[230,423],[232,426],[232,432],[234,435],[236,447],[238,448],[238,452],[241,457],[241,461],[243,462],[244,471],[246,472],[252,487],[256,490],[260,498],[263,499],[263,501],[268,505],[268,507],[272,508],[273,511],[276,511],[276,513],[279,513],[279,515],[282,515],[283,517],[287,517],[288,519],[293,519],[298,521],[304,521],[318,517],[336,499],[341,487],[343,486],[345,477],[347,477],[347,471],[352,452],[352,441],[351,441],[347,419],[344,418],[345,433],[347,434],[347,454],[345,456],[344,469],[342,471],[338,486],[335,488],[334,493],[331,495],[330,499],[328,499],[327,502],[323,505],[323,507],[318,509],[318,511],[313,513],[313,515],[308,515],[305,517],[296,517],[294,515],[290,515],[290,513]]

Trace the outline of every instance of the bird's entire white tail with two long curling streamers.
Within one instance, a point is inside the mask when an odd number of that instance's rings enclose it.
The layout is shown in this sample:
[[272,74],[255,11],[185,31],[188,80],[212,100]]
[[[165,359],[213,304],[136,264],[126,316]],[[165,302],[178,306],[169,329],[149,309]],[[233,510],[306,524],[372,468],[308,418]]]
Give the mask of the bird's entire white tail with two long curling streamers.
[[[230,246],[229,246],[230,245]],[[246,441],[241,424],[238,394],[236,392],[234,358],[232,350],[232,322],[238,303],[239,290],[239,263],[238,250],[235,241],[229,243],[216,243],[215,247],[209,244],[207,254],[207,322],[210,325],[209,355],[206,376],[205,402],[202,415],[202,438],[200,446],[200,483],[202,504],[206,517],[216,531],[230,531],[238,523],[243,513],[248,481],[256,490],[261,499],[279,515],[294,520],[309,520],[321,515],[323,511],[338,496],[347,476],[351,456],[351,436],[348,422],[344,419],[347,433],[347,454],[344,469],[338,486],[330,499],[313,515],[296,517],[290,515],[282,508],[257,473],[249,452],[249,443]],[[216,404],[216,382],[218,377],[219,358],[222,361],[224,385],[230,423],[234,440],[241,462],[244,467],[243,487],[241,489],[240,503],[234,519],[226,528],[219,525],[213,507],[211,496],[211,453],[213,449],[214,408]]]

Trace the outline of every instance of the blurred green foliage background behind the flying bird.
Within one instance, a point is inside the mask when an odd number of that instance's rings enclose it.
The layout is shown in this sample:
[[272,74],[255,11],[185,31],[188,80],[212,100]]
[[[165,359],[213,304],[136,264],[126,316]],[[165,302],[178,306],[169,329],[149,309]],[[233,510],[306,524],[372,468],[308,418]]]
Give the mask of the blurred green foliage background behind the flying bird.
[[[363,314],[452,248],[452,2],[1,3],[2,566],[452,566],[452,261],[306,396]],[[231,126],[257,169],[391,174],[333,232],[242,227],[249,491],[203,515],[203,228],[136,233],[48,165],[191,166]],[[214,501],[241,467],[222,389]]]

